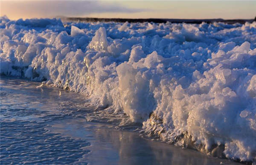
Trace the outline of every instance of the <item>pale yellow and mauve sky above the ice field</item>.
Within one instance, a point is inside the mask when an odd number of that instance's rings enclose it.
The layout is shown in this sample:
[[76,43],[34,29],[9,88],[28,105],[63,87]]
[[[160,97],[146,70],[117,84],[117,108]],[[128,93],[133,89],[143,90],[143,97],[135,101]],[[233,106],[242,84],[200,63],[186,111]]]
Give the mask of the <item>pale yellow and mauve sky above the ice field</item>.
[[44,17],[253,19],[256,0],[0,0],[9,19]]

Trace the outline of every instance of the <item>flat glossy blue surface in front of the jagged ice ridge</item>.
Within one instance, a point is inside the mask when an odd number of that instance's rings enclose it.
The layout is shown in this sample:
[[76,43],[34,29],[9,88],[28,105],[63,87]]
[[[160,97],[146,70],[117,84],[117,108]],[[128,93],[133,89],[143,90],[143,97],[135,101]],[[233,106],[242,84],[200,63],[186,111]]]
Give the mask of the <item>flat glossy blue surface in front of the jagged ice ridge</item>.
[[115,129],[127,117],[40,85],[1,77],[1,164],[236,164],[143,138],[140,125]]

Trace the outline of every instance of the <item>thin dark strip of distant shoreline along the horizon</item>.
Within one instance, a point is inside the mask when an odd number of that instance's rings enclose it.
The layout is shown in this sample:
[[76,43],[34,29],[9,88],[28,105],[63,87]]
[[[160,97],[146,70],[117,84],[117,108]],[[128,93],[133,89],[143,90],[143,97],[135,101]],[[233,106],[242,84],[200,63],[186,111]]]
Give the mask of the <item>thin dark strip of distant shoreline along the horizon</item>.
[[143,22],[153,22],[153,23],[166,23],[167,21],[172,23],[195,23],[200,24],[202,22],[205,23],[214,23],[214,22],[223,22],[228,24],[233,23],[241,23],[244,24],[245,22],[252,23],[254,20],[223,20],[223,19],[156,19],[156,18],[149,18],[149,19],[127,19],[127,18],[90,18],[90,17],[62,17],[62,20],[66,21],[82,21],[82,22],[120,22],[124,23],[128,21],[129,23],[143,23]]

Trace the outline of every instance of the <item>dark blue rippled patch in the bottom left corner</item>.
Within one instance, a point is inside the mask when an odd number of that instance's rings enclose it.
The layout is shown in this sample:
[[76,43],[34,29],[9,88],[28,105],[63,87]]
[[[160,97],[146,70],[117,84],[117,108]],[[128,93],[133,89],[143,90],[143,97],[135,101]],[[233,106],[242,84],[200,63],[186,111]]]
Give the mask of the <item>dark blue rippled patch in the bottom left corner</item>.
[[3,164],[70,164],[89,151],[82,139],[47,133],[47,124],[28,121],[1,122]]

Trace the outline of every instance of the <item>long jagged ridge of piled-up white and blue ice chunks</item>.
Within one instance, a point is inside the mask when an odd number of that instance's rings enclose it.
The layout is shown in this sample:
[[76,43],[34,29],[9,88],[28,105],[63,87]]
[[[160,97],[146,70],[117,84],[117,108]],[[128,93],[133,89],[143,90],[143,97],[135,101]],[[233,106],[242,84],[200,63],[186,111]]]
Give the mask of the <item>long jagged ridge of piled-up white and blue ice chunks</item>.
[[256,22],[1,17],[0,28],[1,74],[86,94],[166,142],[256,160]]

